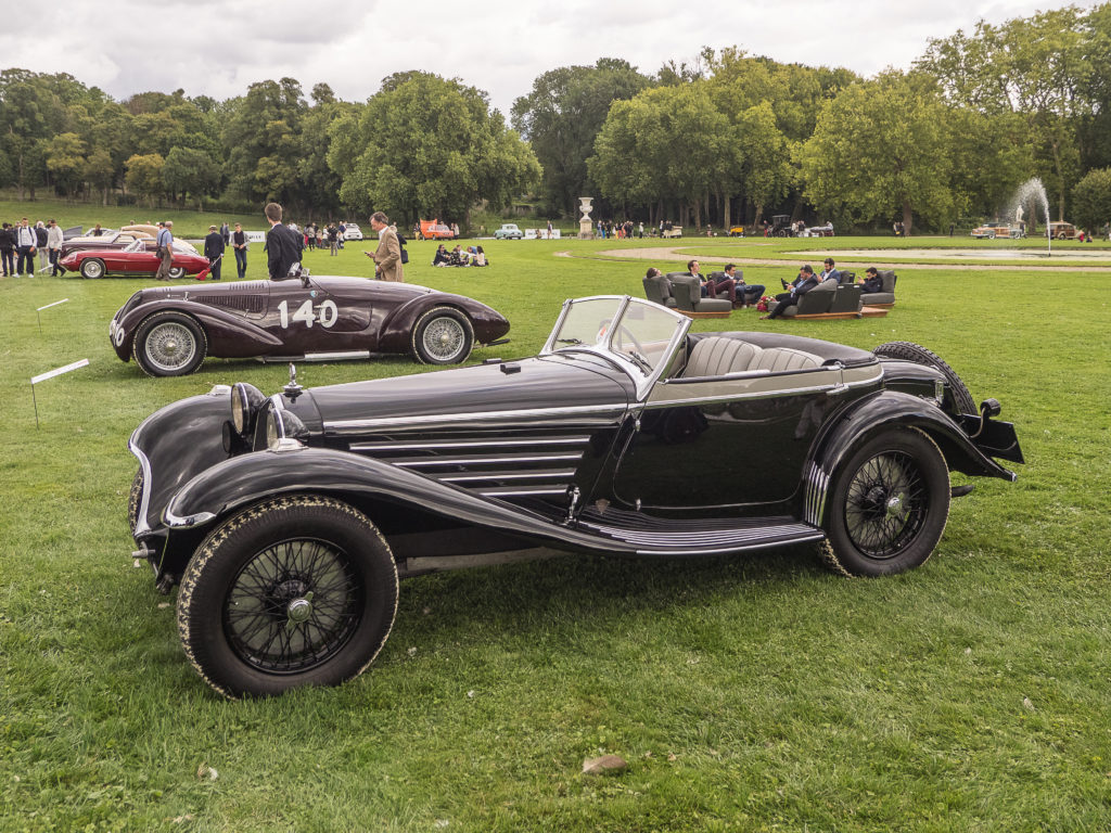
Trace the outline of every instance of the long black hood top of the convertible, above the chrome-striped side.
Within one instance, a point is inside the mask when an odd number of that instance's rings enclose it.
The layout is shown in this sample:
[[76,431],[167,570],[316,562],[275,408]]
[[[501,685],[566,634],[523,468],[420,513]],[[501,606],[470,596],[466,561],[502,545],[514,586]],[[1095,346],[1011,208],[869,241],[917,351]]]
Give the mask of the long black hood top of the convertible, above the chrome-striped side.
[[628,405],[632,390],[618,368],[574,353],[311,388],[296,402],[287,398],[286,407],[294,412],[314,407],[326,433],[347,433],[386,420],[617,410]]

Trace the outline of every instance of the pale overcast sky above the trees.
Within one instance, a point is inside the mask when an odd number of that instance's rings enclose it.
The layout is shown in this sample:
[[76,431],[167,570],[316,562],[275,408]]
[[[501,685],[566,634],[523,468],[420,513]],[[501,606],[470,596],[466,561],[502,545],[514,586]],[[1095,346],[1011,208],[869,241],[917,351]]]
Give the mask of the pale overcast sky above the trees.
[[[541,72],[624,58],[654,73],[703,46],[871,76],[908,68],[929,38],[1068,2],[1042,0],[99,0],[32,3],[0,27],[0,66],[69,72],[117,99],[216,99],[284,76],[363,101],[410,69],[461,78],[509,114]],[[1077,2],[1090,8],[1094,2]],[[17,11],[16,8],[12,9]],[[26,12],[26,13],[24,13]],[[26,18],[28,26],[17,21]]]

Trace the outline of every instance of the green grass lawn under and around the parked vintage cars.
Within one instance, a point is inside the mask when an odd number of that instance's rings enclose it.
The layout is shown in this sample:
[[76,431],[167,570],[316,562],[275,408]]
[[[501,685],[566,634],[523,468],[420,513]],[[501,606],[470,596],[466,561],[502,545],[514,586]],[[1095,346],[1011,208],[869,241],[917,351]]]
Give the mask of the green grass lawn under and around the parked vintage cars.
[[[741,242],[709,244],[742,257]],[[803,241],[743,247],[757,242]],[[307,263],[367,275],[370,245]],[[406,273],[512,322],[510,344],[471,361],[531,354],[564,298],[640,295],[650,264],[597,257],[614,241],[484,248],[488,269],[432,269],[434,244],[411,243]],[[778,287],[789,257],[745,278]],[[256,247],[249,277],[263,274]],[[1019,481],[978,480],[912,573],[841,579],[801,548],[424,576],[402,585],[363,676],[246,702],[193,673],[173,596],[132,566],[126,443],[161,405],[237,380],[272,392],[287,370],[208,360],[152,380],[121,363],[108,322],[144,283],[0,279],[0,831],[1111,827],[1111,278],[907,270],[883,319],[695,322],[915,341],[1002,402],[1028,460]],[[40,332],[36,308],[63,298]],[[29,379],[82,358],[38,385],[37,429]],[[421,370],[303,364],[299,379]],[[630,767],[580,773],[604,753]]]

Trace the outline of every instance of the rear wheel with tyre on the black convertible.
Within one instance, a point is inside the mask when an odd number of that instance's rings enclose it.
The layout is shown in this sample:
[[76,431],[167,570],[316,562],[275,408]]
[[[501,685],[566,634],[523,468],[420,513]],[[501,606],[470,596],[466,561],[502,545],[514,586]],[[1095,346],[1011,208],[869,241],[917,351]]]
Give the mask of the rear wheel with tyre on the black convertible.
[[890,575],[933,554],[949,519],[949,469],[917,429],[884,431],[833,476],[825,561],[850,575]]

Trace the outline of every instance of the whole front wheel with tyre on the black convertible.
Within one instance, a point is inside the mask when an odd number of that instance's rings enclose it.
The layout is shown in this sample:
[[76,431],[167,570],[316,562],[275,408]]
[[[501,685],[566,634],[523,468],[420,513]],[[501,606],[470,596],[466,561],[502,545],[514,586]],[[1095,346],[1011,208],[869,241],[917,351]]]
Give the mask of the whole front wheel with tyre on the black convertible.
[[228,697],[338,685],[361,674],[398,610],[398,571],[376,526],[329,498],[276,498],[197,549],[178,593],[178,632]]

